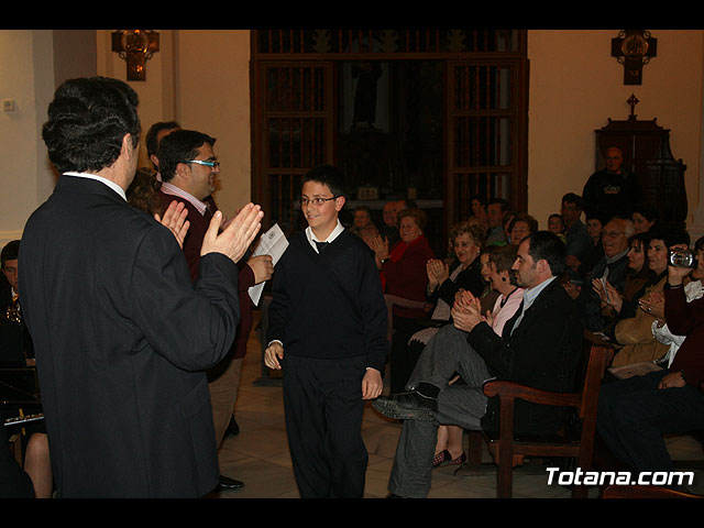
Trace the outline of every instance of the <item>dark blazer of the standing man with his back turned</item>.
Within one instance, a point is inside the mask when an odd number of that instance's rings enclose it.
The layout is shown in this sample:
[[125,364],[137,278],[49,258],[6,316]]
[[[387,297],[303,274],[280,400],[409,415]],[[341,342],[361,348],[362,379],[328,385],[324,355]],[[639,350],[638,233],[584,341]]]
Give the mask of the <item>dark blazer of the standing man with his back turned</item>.
[[67,175],[28,221],[19,260],[59,496],[212,491],[204,371],[235,334],[235,264],[205,255],[194,286],[170,231]]

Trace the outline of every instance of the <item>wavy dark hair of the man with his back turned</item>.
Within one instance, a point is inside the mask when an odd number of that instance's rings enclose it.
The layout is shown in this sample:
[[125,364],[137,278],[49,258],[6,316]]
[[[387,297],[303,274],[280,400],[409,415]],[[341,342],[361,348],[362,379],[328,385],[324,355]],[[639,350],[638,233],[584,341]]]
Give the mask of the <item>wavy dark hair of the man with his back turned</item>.
[[120,156],[122,139],[140,142],[136,92],[108,77],[64,81],[48,106],[42,138],[59,173],[99,172]]

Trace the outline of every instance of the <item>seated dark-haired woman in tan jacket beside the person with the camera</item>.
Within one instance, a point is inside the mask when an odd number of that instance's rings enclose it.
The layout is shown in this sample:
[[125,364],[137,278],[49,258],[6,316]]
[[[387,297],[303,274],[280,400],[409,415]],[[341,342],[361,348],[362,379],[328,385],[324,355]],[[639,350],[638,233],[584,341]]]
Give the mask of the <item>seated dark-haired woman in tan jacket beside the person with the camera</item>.
[[[648,266],[654,273],[657,280],[646,287],[639,302],[651,293],[662,292],[668,280],[668,251],[675,244],[690,244],[690,235],[686,231],[676,227],[664,224],[653,226],[650,231],[648,244]],[[660,310],[650,306],[640,306],[634,317],[620,319],[614,328],[614,339],[620,346],[614,360],[613,366],[630,365],[644,361],[656,361],[668,352],[668,346],[658,342],[652,336],[652,322],[663,319]]]

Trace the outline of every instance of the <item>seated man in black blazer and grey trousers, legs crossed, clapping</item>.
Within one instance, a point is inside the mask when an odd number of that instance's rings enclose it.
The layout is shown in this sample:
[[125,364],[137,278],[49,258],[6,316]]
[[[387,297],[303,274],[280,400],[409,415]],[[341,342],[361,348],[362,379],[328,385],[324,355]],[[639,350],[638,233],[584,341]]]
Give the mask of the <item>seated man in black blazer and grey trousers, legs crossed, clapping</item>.
[[[426,497],[430,488],[438,426],[496,431],[498,400],[482,391],[491,377],[544,391],[573,391],[582,351],[582,326],[574,302],[556,280],[562,273],[564,244],[539,231],[518,248],[513,265],[517,285],[526,288],[522,308],[497,336],[479,311],[479,302],[460,299],[453,326],[426,346],[408,382],[407,393],[380,397],[374,407],[403,419],[389,479],[392,496]],[[448,385],[458,372],[465,385]],[[517,435],[551,435],[565,410],[517,402]]]

